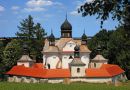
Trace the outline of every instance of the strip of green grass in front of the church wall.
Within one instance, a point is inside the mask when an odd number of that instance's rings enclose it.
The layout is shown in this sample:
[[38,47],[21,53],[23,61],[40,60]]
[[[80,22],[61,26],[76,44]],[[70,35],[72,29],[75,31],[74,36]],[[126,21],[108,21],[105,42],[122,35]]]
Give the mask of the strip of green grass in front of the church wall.
[[130,90],[130,81],[118,87],[114,85],[90,83],[71,83],[66,85],[0,82],[0,90]]

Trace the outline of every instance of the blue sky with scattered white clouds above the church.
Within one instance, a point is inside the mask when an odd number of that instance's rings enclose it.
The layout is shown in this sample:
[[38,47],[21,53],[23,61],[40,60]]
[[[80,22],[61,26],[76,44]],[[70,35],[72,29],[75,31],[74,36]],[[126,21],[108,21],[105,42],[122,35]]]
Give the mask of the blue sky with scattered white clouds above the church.
[[[82,17],[77,13],[85,2],[92,0],[0,0],[0,37],[15,37],[20,22],[31,15],[35,23],[40,23],[50,35],[51,29],[60,37],[60,26],[67,19],[72,25],[73,37],[81,37],[84,32],[93,36],[100,28],[96,16]],[[104,22],[103,28],[112,30],[118,22],[111,19]]]

